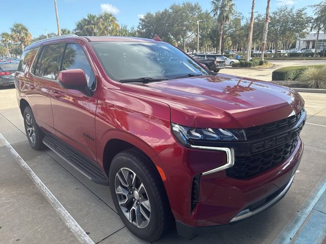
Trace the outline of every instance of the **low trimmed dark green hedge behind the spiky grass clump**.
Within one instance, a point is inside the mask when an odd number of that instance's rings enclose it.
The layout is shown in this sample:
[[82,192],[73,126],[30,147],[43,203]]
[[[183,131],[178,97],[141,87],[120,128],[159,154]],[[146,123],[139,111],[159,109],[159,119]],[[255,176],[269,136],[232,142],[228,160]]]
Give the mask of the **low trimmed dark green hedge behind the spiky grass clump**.
[[310,67],[323,68],[325,65],[309,65],[309,66],[290,66],[283,67],[273,71],[271,74],[271,80],[295,80],[300,76],[305,70]]

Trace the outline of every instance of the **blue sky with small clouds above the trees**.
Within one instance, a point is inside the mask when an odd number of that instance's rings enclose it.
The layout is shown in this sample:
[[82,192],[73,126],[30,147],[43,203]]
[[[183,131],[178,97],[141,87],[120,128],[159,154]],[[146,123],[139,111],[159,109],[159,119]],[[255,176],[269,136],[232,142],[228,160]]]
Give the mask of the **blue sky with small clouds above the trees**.
[[[0,33],[10,32],[10,27],[19,22],[29,28],[33,37],[41,34],[57,33],[57,22],[53,0],[0,0],[1,11]],[[137,26],[139,18],[147,12],[156,12],[168,8],[174,3],[183,3],[184,0],[57,0],[60,26],[74,29],[75,23],[86,17],[88,13],[99,14],[102,11],[113,13],[119,24],[128,27]],[[211,10],[210,0],[198,0],[204,10]],[[235,0],[236,10],[249,17],[252,0]],[[256,0],[255,12],[265,13],[266,0]],[[302,8],[307,5],[317,4],[320,0],[271,0],[270,10],[274,11],[280,6],[288,5]],[[10,11],[12,10],[12,11]],[[307,12],[312,15],[312,10]]]

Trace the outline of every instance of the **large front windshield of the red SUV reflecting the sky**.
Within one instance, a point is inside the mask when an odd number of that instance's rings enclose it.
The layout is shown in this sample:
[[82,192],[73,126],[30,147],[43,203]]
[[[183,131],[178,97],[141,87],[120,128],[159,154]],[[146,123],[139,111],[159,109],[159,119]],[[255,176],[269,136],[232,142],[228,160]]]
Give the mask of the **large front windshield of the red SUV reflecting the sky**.
[[106,74],[115,81],[208,75],[203,67],[167,43],[91,42],[91,45]]

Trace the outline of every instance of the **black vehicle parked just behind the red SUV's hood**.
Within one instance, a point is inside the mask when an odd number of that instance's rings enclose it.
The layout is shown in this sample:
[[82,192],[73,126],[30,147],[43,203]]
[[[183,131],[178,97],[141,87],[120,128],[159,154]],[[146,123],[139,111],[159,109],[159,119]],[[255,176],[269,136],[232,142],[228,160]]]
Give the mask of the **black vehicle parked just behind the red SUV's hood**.
[[213,72],[225,68],[225,58],[221,54],[197,54],[193,58]]

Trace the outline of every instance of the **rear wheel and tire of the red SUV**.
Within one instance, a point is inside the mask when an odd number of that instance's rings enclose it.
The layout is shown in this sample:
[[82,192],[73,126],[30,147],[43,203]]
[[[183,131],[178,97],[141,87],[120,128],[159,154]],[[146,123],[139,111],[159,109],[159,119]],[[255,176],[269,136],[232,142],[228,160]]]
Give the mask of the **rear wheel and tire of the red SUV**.
[[24,118],[24,127],[25,127],[26,136],[29,140],[31,147],[33,147],[35,150],[44,149],[45,145],[43,144],[42,141],[44,138],[44,133],[36,124],[35,117],[31,107],[29,106],[25,107],[23,118]]

